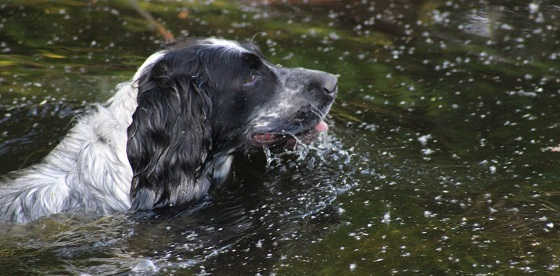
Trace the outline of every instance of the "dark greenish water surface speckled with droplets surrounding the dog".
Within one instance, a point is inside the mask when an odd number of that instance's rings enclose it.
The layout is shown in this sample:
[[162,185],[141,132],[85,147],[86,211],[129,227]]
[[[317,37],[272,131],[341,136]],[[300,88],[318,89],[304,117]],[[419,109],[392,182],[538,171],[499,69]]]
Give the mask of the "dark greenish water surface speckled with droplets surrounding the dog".
[[[0,2],[0,174],[161,46],[132,2]],[[238,158],[195,210],[0,225],[0,274],[560,273],[558,1],[139,7],[177,37],[341,74],[329,135]]]

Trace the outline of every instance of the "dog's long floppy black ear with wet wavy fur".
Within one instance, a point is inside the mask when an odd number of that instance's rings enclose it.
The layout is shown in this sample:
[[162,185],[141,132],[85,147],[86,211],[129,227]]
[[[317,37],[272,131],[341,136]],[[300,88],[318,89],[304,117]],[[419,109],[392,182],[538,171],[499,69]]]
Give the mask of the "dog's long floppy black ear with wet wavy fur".
[[133,209],[188,202],[210,186],[201,176],[212,145],[212,103],[193,70],[160,60],[139,78],[127,143]]

